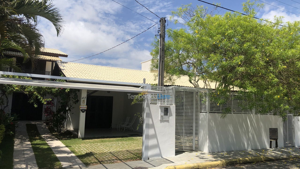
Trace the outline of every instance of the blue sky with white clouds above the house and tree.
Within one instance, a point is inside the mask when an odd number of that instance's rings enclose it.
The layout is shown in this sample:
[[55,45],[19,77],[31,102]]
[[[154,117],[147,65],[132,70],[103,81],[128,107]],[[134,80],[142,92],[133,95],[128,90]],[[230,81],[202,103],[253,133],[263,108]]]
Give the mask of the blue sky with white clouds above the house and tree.
[[[128,8],[154,20],[159,18],[147,11],[134,0],[115,0]],[[171,11],[176,11],[183,4],[204,5],[211,8],[211,5],[197,0],[138,0],[152,12],[160,17],[169,17]],[[221,3],[224,8],[241,11],[243,0],[205,0],[210,3]],[[280,3],[276,0],[262,0],[263,2],[300,14],[300,10]],[[286,4],[300,8],[300,0],[279,0]],[[63,61],[77,60],[105,51],[123,41],[139,34],[154,22],[148,20],[127,8],[113,2],[112,0],[52,0],[53,4],[61,10],[64,16],[65,27],[61,36],[56,37],[54,27],[46,20],[41,21],[38,26],[44,35],[47,48],[56,48],[69,56],[62,58]],[[257,1],[259,2],[259,1]],[[259,2],[261,3],[261,2]],[[226,12],[219,9],[219,14]],[[277,16],[284,16],[285,21],[300,20],[300,16],[265,4],[256,17],[271,19]],[[169,21],[169,29],[182,27],[174,25]],[[88,59],[76,61],[78,63],[95,64],[101,66],[121,67],[128,69],[141,69],[140,62],[151,59],[151,43],[157,27],[152,27],[136,38],[103,54]]]

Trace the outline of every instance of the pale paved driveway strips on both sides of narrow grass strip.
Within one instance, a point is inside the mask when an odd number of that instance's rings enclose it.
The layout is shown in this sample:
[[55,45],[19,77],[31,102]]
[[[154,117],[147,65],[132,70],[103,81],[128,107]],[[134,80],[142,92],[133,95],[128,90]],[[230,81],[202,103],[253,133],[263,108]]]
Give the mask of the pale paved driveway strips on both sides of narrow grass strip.
[[55,138],[42,121],[19,121],[16,124],[15,143],[13,151],[13,169],[38,169],[35,155],[27,134],[26,124],[36,124],[39,133],[51,147],[64,168],[85,167],[61,141]]

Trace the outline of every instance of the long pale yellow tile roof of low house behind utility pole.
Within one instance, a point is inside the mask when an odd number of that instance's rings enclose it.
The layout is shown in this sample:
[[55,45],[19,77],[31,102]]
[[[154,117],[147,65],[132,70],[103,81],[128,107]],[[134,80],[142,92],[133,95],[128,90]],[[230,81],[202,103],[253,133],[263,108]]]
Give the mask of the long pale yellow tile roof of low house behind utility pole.
[[[143,78],[146,78],[147,84],[158,83],[156,80],[157,78],[155,78],[155,75],[157,76],[157,73],[155,72],[73,62],[57,62],[57,64],[66,77],[122,81],[131,83],[143,83]],[[172,84],[167,83],[165,85]],[[193,85],[188,81],[187,76],[182,76],[176,79],[175,84],[173,85],[193,87]]]

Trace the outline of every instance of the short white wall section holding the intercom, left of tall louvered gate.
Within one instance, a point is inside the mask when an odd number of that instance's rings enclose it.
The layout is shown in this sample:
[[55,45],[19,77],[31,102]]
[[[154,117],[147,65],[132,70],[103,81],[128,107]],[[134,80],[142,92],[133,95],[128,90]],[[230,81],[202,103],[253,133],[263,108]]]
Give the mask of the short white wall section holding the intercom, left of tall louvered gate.
[[160,120],[160,106],[146,103],[143,151],[148,158],[175,155],[175,105],[166,106],[170,108],[169,120]]

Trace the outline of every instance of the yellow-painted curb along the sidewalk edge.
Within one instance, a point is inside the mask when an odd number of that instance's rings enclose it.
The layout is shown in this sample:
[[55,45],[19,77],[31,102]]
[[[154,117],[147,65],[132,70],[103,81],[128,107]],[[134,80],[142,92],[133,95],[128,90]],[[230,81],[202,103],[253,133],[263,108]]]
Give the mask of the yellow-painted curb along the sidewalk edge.
[[251,162],[260,162],[260,161],[270,161],[270,160],[285,160],[291,158],[299,158],[299,156],[295,157],[266,157],[266,156],[255,156],[255,157],[247,157],[247,158],[234,158],[228,160],[220,160],[220,161],[209,161],[202,163],[193,163],[193,164],[182,164],[182,165],[174,165],[168,166],[165,169],[203,169],[203,168],[213,168],[213,167],[222,167],[226,165],[235,165],[235,164],[244,164]]

